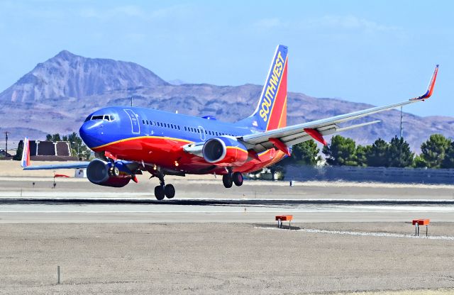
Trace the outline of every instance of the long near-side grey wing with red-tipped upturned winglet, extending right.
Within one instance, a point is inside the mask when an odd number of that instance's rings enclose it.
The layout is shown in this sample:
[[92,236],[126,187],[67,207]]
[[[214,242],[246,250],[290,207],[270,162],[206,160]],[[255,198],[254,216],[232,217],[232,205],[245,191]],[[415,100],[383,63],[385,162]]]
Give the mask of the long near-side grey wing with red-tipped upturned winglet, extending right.
[[437,73],[438,65],[436,65],[435,67],[431,82],[428,84],[428,89],[426,93],[421,96],[415,97],[414,99],[402,101],[397,104],[389,104],[387,106],[367,108],[362,111],[355,111],[353,113],[346,113],[343,115],[325,118],[317,121],[311,121],[293,126],[287,126],[284,128],[268,130],[263,133],[244,135],[243,137],[238,138],[238,140],[243,141],[248,150],[262,152],[274,146],[277,147],[279,150],[282,150],[283,152],[287,153],[287,155],[289,154],[289,150],[287,148],[288,146],[295,145],[297,143],[302,143],[306,140],[310,140],[311,138],[314,138],[315,140],[318,140],[319,142],[326,145],[326,141],[323,139],[323,135],[329,135],[333,133],[342,132],[345,130],[350,130],[353,128],[367,126],[370,124],[378,123],[380,121],[372,121],[353,126],[348,126],[345,128],[339,127],[338,123],[355,120],[358,118],[372,115],[373,113],[380,113],[382,111],[387,111],[392,108],[406,106],[407,104],[414,104],[418,101],[424,101],[425,99],[428,99],[432,95]]

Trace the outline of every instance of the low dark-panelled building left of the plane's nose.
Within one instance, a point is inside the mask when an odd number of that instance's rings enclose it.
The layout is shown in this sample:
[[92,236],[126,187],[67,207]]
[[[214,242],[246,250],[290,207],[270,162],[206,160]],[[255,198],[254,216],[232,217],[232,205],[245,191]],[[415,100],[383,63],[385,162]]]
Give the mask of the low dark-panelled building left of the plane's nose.
[[[18,149],[23,148],[23,140]],[[30,140],[30,160],[32,161],[77,161],[71,155],[71,146],[67,141]]]

